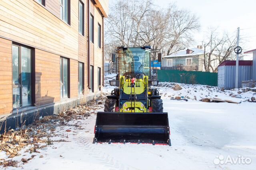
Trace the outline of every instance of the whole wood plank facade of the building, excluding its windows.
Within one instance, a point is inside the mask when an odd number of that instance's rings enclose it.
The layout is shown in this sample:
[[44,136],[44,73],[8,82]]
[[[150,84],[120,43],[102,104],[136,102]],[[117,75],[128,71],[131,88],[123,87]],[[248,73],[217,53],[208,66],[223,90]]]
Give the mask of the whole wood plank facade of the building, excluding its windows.
[[[12,112],[12,41],[35,48],[36,105],[60,101],[60,56],[70,59],[70,97],[78,96],[78,61],[84,63],[85,94],[89,93],[88,7],[87,0],[81,1],[84,36],[78,33],[78,0],[70,0],[70,25],[60,20],[59,0],[46,0],[45,7],[35,0],[0,0],[0,115]],[[103,71],[102,48],[98,48],[98,22],[102,27],[102,17],[93,2],[90,0],[90,13],[94,16],[90,65],[94,65],[94,92],[97,92],[98,67]]]

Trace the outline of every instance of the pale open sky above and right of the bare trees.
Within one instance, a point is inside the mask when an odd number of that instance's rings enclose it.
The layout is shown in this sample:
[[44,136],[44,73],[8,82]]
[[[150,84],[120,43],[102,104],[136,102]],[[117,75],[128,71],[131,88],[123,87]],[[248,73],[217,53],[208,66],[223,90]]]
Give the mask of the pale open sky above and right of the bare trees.
[[[114,2],[109,0],[109,4]],[[256,49],[256,0],[154,0],[154,4],[163,8],[173,2],[199,17],[201,29],[194,34],[193,47],[201,44],[210,27],[229,33],[236,33],[240,27],[243,52]]]

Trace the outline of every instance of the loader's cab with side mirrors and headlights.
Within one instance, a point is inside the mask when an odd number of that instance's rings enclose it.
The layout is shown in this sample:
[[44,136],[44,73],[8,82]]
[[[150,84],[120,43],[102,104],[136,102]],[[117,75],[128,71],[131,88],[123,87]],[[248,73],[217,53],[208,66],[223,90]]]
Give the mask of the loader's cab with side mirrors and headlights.
[[[117,47],[112,53],[112,62],[116,68],[116,80],[110,80],[111,86],[118,86],[120,76],[136,77],[140,75],[148,76],[148,84],[158,85],[156,71],[151,67],[151,60],[156,58],[158,52],[158,61],[162,59],[162,53],[159,49],[152,49],[150,46],[143,47]],[[154,56],[154,57],[153,57]],[[153,65],[154,68],[154,65]]]

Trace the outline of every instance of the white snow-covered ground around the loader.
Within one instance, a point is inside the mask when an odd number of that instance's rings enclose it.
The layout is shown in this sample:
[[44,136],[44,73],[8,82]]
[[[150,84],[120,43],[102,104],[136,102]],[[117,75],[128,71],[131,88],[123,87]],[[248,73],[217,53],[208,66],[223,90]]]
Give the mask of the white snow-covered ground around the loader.
[[[112,77],[108,75],[106,80]],[[12,158],[18,161],[18,167],[8,166],[6,170],[255,170],[256,103],[201,102],[198,101],[201,97],[229,97],[230,93],[237,93],[238,90],[221,91],[203,85],[180,85],[180,91],[172,89],[174,83],[160,83],[158,87],[164,111],[169,116],[172,146],[92,144],[96,112],[103,110],[104,98],[101,98],[90,105],[89,117],[76,115],[65,124],[58,120],[51,123],[55,130],[48,132],[53,144],[38,149],[40,153],[31,154],[26,150],[32,146],[26,146],[19,152],[20,156]],[[109,93],[112,89],[106,83],[104,92]],[[176,96],[188,101],[170,100]],[[248,91],[241,93],[241,96],[244,101],[256,97],[256,93]],[[32,155],[36,156],[28,162],[20,161]],[[11,159],[7,157],[6,152],[0,152],[0,159]],[[247,163],[251,160],[250,164],[242,164],[242,161],[238,164],[242,157],[247,158]],[[237,160],[237,163],[225,164],[227,158],[233,162]],[[218,164],[220,160],[224,164]]]

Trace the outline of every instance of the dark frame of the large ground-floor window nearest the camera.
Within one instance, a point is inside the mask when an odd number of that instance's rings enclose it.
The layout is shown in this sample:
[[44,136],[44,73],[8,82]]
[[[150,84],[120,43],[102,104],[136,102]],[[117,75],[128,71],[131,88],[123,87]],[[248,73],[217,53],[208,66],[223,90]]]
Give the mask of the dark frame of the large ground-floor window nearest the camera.
[[[20,88],[20,107],[18,107],[18,109],[22,109],[28,106],[35,106],[36,105],[36,71],[35,71],[35,49],[33,47],[21,44],[21,43],[17,43],[17,42],[12,42],[12,46],[18,46],[19,47],[19,84],[13,84],[12,83],[12,91],[13,88]],[[22,106],[22,81],[21,81],[21,59],[22,59],[22,55],[21,55],[21,47],[26,47],[29,48],[31,50],[31,60],[30,60],[30,67],[31,67],[31,82],[30,82],[30,87],[31,87],[31,105],[26,105],[26,106]],[[13,73],[13,68],[12,68],[12,73]],[[13,76],[13,75],[12,75]],[[12,92],[13,93],[13,92]],[[13,94],[12,94],[13,95]],[[16,110],[17,108],[12,107],[13,110]]]

